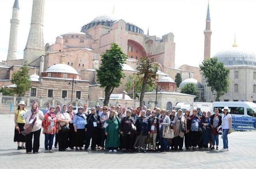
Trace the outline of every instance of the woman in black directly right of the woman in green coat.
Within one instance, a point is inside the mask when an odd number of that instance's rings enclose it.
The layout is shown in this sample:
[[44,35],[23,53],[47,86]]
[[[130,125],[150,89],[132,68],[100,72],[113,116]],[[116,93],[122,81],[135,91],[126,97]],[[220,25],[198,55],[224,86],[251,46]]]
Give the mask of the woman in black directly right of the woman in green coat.
[[126,117],[122,118],[120,124],[120,134],[122,135],[122,148],[124,149],[124,153],[127,151],[133,151],[133,145],[135,140],[135,120],[131,118],[131,110],[126,111]]

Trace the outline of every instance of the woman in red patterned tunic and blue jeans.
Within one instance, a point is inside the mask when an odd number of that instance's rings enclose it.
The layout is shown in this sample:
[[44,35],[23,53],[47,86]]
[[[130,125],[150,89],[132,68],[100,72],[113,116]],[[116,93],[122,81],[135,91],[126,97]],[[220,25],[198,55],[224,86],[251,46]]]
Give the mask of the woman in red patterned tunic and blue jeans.
[[58,128],[57,128],[57,117],[54,112],[54,107],[50,107],[50,111],[48,111],[44,115],[44,120],[42,122],[43,126],[43,134],[45,136],[44,139],[44,148],[45,148],[45,153],[52,153],[52,144],[53,144],[53,139],[55,133],[58,133]]

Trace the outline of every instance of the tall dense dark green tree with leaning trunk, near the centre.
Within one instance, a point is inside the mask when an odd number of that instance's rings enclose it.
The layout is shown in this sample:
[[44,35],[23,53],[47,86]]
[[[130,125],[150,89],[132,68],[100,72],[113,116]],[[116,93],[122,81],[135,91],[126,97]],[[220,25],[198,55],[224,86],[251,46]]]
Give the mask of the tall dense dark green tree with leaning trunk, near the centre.
[[101,65],[97,70],[98,83],[100,87],[105,88],[104,106],[108,106],[110,95],[115,87],[119,87],[121,79],[125,77],[122,65],[125,63],[127,56],[116,43],[111,44],[101,57]]

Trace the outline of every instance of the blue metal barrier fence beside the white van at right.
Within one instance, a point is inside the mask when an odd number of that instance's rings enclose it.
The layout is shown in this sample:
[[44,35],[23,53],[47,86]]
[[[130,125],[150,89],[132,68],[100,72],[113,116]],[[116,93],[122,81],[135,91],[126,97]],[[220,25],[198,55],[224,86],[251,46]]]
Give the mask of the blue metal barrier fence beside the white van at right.
[[233,130],[256,130],[256,117],[232,116]]

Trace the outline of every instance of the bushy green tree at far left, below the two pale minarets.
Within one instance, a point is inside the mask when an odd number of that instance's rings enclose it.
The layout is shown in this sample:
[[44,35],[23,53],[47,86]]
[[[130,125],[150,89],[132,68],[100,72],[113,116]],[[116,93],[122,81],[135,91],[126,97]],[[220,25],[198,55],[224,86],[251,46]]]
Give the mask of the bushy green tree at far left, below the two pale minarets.
[[24,96],[26,91],[31,88],[31,82],[28,76],[28,63],[25,64],[20,68],[20,70],[14,72],[12,74],[11,82],[16,85],[14,88],[14,93],[18,94],[18,96]]

